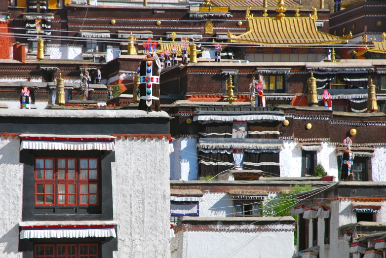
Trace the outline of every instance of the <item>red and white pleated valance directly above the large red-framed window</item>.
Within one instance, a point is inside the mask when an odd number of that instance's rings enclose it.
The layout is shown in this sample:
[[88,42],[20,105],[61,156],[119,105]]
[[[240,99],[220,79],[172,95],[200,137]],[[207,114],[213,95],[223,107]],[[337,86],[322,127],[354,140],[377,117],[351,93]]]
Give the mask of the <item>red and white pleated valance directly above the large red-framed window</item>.
[[115,150],[114,136],[22,134],[22,149]]

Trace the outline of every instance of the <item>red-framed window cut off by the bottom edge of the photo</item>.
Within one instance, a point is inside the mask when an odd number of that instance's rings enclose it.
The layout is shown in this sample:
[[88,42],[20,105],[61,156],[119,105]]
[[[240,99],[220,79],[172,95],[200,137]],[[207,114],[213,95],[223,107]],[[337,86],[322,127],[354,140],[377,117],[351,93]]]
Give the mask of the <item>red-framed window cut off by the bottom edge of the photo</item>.
[[98,244],[36,244],[34,258],[99,258]]

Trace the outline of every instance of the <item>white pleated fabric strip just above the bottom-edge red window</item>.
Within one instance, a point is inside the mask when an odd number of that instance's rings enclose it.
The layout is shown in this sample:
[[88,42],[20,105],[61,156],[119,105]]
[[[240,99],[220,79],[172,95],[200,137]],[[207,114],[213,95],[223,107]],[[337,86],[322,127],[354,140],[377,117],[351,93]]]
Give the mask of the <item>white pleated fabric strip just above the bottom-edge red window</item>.
[[83,237],[116,237],[114,228],[100,229],[22,229],[20,239],[29,238],[83,238]]

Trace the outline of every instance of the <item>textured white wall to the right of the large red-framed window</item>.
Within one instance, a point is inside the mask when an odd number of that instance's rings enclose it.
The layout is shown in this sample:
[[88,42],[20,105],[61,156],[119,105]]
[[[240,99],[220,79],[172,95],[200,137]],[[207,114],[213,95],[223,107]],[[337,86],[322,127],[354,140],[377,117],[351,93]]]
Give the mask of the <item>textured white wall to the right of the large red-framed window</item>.
[[169,141],[116,140],[112,180],[114,257],[170,257]]

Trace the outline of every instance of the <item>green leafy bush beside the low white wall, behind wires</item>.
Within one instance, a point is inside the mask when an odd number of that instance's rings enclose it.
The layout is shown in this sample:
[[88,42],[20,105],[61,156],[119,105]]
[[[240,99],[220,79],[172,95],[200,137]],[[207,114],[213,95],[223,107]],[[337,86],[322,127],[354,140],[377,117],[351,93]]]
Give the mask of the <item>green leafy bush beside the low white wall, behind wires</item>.
[[[261,205],[261,213],[264,217],[282,217],[282,216],[291,216],[290,210],[293,206],[296,205],[296,195],[301,192],[312,190],[312,186],[309,184],[296,184],[288,193],[281,193],[280,199],[277,201],[273,198],[267,198]],[[298,216],[292,215],[292,217],[297,221]],[[294,232],[294,244],[296,245],[297,238],[297,223],[295,223],[295,232]]]

